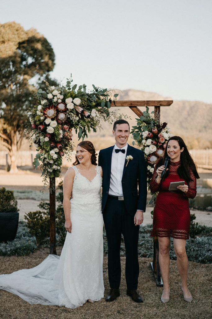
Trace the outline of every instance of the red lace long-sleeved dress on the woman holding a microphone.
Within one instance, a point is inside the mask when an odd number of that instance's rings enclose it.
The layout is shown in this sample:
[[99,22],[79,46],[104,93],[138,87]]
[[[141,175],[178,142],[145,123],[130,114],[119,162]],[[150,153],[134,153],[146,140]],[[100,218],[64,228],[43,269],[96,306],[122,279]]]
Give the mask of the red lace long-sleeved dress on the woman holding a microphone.
[[169,165],[169,175],[160,184],[155,182],[157,178],[156,168],[150,182],[152,193],[159,191],[156,198],[153,214],[153,230],[151,236],[173,237],[180,239],[189,238],[190,211],[188,198],[196,196],[196,178],[190,169],[190,176],[193,181],[187,183],[188,192],[181,190],[169,191],[170,182],[179,182],[183,179],[177,174],[181,161]]

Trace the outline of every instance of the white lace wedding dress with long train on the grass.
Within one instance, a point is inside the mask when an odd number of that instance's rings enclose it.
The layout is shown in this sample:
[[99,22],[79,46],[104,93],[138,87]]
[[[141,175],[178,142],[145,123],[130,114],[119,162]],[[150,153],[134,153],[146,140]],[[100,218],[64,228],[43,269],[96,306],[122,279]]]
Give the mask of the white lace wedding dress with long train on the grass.
[[100,167],[90,182],[76,166],[71,199],[72,232],[65,238],[61,256],[49,255],[38,266],[0,275],[0,289],[30,304],[82,306],[104,297],[103,218]]

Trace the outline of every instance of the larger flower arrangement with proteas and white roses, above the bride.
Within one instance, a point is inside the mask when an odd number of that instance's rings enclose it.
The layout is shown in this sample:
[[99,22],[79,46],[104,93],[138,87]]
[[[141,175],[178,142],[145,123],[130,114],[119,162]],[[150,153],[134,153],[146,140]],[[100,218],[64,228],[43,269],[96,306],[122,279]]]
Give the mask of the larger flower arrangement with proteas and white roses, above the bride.
[[[86,85],[72,85],[72,78],[66,86],[54,87],[46,83],[46,90],[35,94],[37,104],[29,114],[31,125],[28,133],[38,153],[33,164],[39,165],[44,180],[59,177],[62,157],[73,150],[73,130],[78,137],[87,137],[91,129],[96,132],[101,121],[112,122],[119,116],[110,112],[112,95],[107,89],[93,85],[94,90],[86,92]],[[118,94],[114,94],[116,98]]]

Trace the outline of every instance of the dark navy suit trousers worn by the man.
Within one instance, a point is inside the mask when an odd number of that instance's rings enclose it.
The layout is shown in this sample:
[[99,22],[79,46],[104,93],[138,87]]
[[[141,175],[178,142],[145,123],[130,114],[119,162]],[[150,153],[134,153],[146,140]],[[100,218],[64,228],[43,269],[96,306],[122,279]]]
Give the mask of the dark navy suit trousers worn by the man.
[[138,238],[139,227],[134,216],[127,213],[124,201],[108,198],[104,209],[108,246],[108,277],[111,288],[119,288],[121,281],[120,244],[121,233],[126,249],[125,276],[127,289],[137,289],[139,276]]

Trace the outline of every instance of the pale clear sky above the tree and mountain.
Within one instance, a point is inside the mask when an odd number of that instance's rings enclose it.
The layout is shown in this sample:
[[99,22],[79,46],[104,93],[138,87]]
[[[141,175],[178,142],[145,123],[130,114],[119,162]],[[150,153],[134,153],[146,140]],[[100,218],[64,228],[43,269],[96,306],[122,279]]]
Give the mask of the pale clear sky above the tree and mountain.
[[51,76],[212,103],[211,0],[10,0],[0,23],[51,43]]

